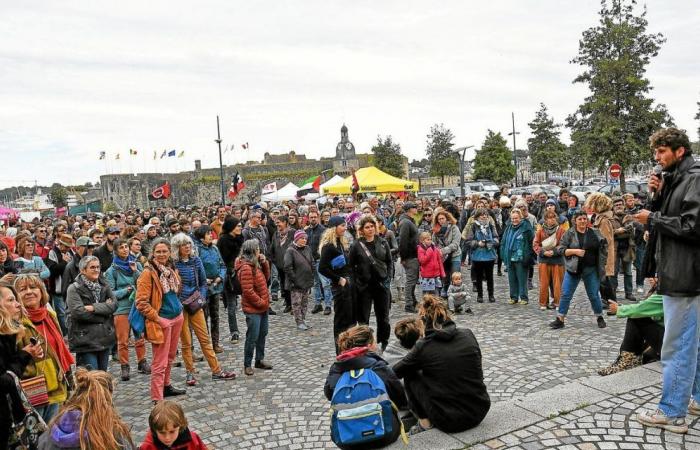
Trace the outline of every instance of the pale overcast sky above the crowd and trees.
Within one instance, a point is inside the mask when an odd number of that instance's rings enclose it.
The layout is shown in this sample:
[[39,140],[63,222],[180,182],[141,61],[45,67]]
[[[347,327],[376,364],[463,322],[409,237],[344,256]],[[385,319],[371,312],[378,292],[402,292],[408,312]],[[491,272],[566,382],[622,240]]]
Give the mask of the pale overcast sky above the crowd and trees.
[[[652,95],[695,140],[700,2],[647,5],[649,30],[667,38],[649,67]],[[586,95],[569,61],[599,9],[591,0],[2,2],[0,188],[189,170],[196,158],[218,166],[217,114],[224,145],[236,146],[225,163],[266,151],[331,156],[343,123],[358,152],[391,134],[422,158],[432,124],[479,147],[487,129],[510,131],[511,111],[524,148],[540,102],[563,122]],[[153,161],[163,149],[185,157]]]

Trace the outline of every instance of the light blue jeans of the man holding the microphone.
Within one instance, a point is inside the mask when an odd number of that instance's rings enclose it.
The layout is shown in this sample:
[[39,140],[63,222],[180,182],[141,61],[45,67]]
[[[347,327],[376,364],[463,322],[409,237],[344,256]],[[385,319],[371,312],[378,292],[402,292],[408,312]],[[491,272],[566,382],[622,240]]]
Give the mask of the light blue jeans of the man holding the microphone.
[[663,296],[664,342],[661,347],[663,386],[659,409],[667,417],[685,417],[690,397],[700,401],[698,339],[700,295]]

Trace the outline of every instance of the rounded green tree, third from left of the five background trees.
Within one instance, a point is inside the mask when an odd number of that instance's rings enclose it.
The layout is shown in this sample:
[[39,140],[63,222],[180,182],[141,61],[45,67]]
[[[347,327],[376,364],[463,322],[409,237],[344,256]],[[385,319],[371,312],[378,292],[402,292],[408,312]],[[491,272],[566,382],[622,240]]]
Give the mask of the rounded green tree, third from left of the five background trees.
[[501,133],[489,130],[474,157],[474,178],[485,178],[496,184],[511,181],[515,177],[513,152]]

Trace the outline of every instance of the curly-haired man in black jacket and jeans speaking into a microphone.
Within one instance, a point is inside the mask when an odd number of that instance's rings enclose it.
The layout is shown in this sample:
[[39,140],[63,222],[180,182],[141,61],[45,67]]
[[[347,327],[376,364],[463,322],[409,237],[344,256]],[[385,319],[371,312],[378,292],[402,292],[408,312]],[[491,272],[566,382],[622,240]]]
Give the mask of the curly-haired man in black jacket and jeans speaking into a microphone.
[[649,138],[663,176],[649,176],[650,209],[635,218],[656,233],[647,248],[655,259],[663,296],[663,387],[656,411],[641,412],[644,425],[686,433],[686,414],[700,415],[700,164],[685,131],[664,128]]

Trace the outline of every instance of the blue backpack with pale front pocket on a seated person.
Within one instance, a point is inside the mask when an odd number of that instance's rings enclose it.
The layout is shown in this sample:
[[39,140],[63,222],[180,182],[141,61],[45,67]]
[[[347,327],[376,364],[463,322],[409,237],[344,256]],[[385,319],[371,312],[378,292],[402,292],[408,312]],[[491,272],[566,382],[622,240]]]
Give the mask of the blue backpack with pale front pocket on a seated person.
[[[394,433],[394,411],[398,412],[384,381],[372,369],[345,372],[331,398],[331,439],[345,446],[390,436]],[[403,425],[401,435],[407,443]]]

